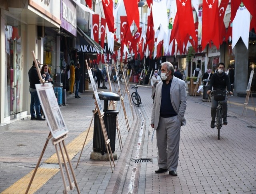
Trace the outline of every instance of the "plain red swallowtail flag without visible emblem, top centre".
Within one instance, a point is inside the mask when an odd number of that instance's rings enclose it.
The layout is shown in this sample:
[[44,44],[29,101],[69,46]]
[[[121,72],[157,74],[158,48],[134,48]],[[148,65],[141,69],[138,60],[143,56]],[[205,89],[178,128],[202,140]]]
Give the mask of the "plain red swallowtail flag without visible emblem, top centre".
[[137,28],[140,27],[140,13],[138,8],[138,1],[124,0],[124,7],[127,16],[127,22],[129,27],[132,25],[134,20]]

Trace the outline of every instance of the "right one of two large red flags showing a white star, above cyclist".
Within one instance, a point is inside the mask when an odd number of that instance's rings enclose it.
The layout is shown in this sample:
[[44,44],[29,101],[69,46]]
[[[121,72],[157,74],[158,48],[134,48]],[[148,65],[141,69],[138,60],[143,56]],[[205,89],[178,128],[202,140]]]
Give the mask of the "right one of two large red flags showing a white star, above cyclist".
[[219,35],[219,10],[218,1],[216,0],[203,0],[202,10],[202,50],[211,41],[219,48],[220,47],[220,35]]

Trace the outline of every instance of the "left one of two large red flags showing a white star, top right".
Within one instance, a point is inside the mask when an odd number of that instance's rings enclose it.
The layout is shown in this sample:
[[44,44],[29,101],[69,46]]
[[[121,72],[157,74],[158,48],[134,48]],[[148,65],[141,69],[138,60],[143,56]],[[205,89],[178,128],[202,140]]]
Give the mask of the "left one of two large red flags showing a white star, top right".
[[[196,31],[195,31],[191,1],[176,0],[176,4],[177,4],[180,40],[182,42],[185,42],[186,36],[190,35],[192,39],[196,41]],[[186,16],[186,19],[184,19],[184,16]]]

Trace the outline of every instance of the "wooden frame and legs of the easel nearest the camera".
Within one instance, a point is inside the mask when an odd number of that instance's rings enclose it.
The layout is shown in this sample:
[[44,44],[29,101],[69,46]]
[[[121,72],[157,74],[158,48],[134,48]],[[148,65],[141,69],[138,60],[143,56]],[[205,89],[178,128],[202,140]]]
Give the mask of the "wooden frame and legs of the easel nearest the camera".
[[[33,57],[34,57],[34,62],[35,62],[35,64],[36,64],[36,69],[37,69],[37,71],[38,71],[38,76],[39,76],[39,78],[40,78],[40,81],[41,81],[41,83],[42,83],[42,82],[44,83],[44,80],[42,80],[42,76],[41,76],[41,73],[40,73],[40,71],[39,71],[39,67],[38,67],[38,63],[37,63],[37,60],[36,60],[34,51],[32,51],[32,55],[33,55]],[[41,162],[41,160],[42,160],[42,157],[43,157],[43,155],[44,155],[44,151],[46,150],[46,147],[47,147],[47,145],[48,145],[48,142],[49,142],[49,140],[50,140],[52,137],[53,137],[53,136],[52,136],[52,132],[50,132],[49,135],[48,135],[48,137],[47,137],[47,139],[46,139],[46,143],[45,143],[45,145],[44,145],[43,151],[42,151],[42,153],[41,153],[41,155],[40,155],[40,157],[39,157],[39,160],[38,160],[38,162],[37,162],[37,164],[36,164],[36,168],[35,168],[35,170],[34,170],[34,172],[33,172],[33,174],[32,174],[32,177],[31,177],[31,179],[30,179],[30,182],[29,182],[29,184],[28,184],[28,188],[27,188],[25,194],[27,194],[28,191],[29,191],[29,189],[30,189],[30,186],[31,186],[31,184],[32,184],[32,182],[33,182],[33,180],[34,180],[35,175],[36,175],[36,171],[37,171],[37,169],[38,169],[38,167],[39,167],[39,165],[40,165],[40,162]],[[74,174],[74,170],[72,169],[72,165],[71,165],[71,162],[70,162],[70,158],[68,157],[68,151],[67,151],[66,145],[65,145],[65,143],[64,143],[64,139],[66,139],[66,138],[67,138],[67,133],[64,134],[64,135],[62,135],[62,136],[60,136],[60,137],[58,137],[58,138],[56,138],[56,139],[52,138],[52,144],[54,145],[54,147],[55,147],[55,149],[56,149],[56,154],[57,154],[58,162],[59,162],[59,166],[60,166],[60,172],[61,172],[61,176],[62,176],[62,180],[63,180],[63,184],[64,184],[63,193],[64,193],[64,194],[67,194],[68,191],[73,190],[73,188],[76,187],[76,190],[77,190],[78,194],[80,194],[80,190],[79,190],[78,184],[77,184],[77,182],[76,182],[76,176],[75,176],[75,174]],[[71,170],[71,173],[72,173],[74,182],[71,182],[70,174],[69,174],[68,167],[67,167],[67,164],[66,164],[66,161],[65,161],[65,156],[64,156],[63,151],[62,151],[61,143],[62,143],[62,145],[63,145],[63,149],[64,149],[65,154],[66,154],[66,157],[67,157],[67,159],[68,159],[68,163],[69,163],[69,166],[70,166],[70,170]],[[61,155],[62,155],[62,160],[63,160],[64,166],[65,166],[65,169],[66,169],[66,174],[67,174],[67,176],[68,176],[69,186],[67,186],[67,184],[66,184],[64,172],[63,172],[63,169],[62,169],[62,162],[61,162],[61,159],[60,159],[60,155],[59,155],[59,151],[58,151],[57,145],[59,145],[59,147],[60,147],[60,153],[61,153]]]

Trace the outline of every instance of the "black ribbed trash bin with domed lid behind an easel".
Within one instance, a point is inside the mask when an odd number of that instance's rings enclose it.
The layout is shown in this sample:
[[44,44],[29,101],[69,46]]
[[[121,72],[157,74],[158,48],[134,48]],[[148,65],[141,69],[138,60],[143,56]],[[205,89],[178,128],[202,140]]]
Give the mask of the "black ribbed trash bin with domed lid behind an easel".
[[[116,118],[119,112],[117,110],[108,110],[108,101],[118,101],[120,100],[120,96],[113,92],[98,92],[98,95],[100,100],[104,100],[103,121],[106,127],[108,139],[110,140],[111,151],[113,153],[116,148]],[[95,152],[102,153],[102,155],[104,155],[104,153],[107,153],[98,112],[94,115],[92,149]]]

